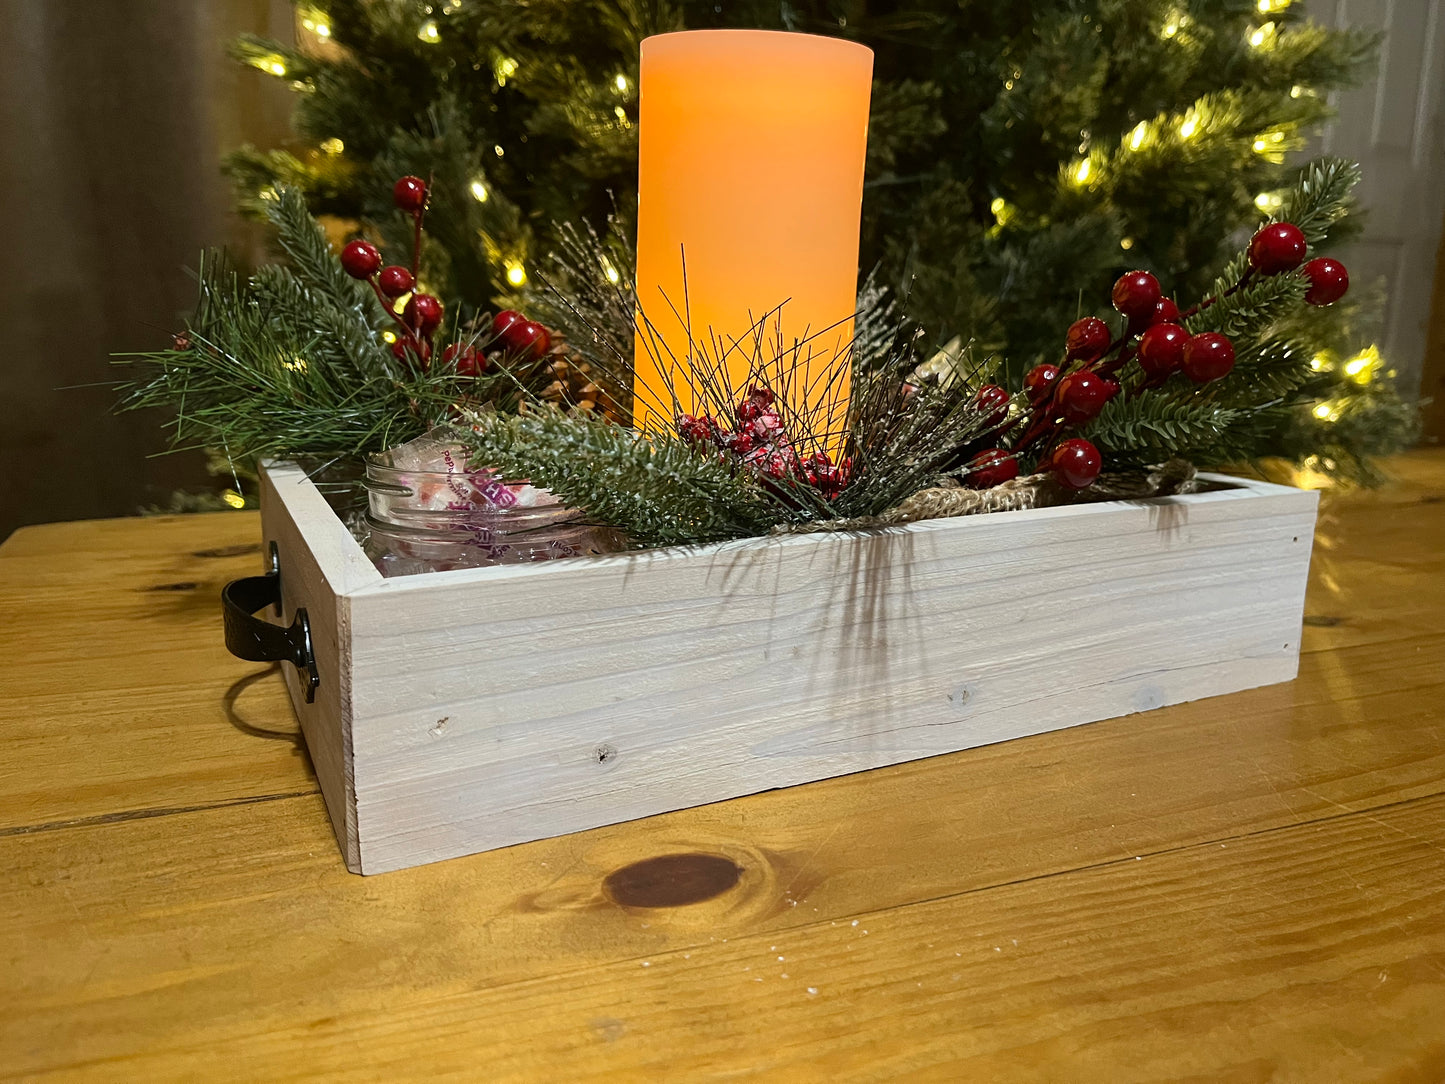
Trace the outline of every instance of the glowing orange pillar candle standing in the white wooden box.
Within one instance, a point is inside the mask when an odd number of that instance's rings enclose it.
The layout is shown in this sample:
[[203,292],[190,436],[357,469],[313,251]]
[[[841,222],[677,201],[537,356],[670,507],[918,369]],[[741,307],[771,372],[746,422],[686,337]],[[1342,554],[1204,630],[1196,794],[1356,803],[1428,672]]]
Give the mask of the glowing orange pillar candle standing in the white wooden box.
[[821,444],[841,444],[871,82],[873,51],[837,38],[643,40],[639,428],[670,425],[673,395],[688,413],[717,409],[708,374],[737,397],[762,332],[764,371],[783,377],[790,409]]

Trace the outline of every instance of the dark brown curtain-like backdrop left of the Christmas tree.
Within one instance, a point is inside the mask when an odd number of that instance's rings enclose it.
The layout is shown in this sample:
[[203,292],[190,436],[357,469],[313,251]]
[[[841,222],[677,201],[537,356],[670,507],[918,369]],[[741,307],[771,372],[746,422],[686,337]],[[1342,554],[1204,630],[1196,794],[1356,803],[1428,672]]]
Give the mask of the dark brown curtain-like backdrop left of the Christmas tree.
[[0,538],[208,487],[158,416],[111,413],[108,354],[163,345],[202,247],[256,233],[218,162],[285,137],[285,88],[224,55],[282,0],[0,0]]

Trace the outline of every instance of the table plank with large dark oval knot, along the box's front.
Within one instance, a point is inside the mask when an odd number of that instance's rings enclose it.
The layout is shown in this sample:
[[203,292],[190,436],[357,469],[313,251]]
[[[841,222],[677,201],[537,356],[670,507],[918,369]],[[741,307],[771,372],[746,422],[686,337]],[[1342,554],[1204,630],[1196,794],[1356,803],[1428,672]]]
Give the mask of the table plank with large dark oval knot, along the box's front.
[[[315,795],[0,838],[14,1005],[0,1052],[30,1051],[36,1068],[127,1058],[204,1022],[342,1018],[780,938],[1445,792],[1445,668],[1394,645],[1337,655],[1306,661],[1295,687],[380,879],[345,873]],[[633,863],[696,853],[733,863],[737,887],[662,909],[604,889]]]

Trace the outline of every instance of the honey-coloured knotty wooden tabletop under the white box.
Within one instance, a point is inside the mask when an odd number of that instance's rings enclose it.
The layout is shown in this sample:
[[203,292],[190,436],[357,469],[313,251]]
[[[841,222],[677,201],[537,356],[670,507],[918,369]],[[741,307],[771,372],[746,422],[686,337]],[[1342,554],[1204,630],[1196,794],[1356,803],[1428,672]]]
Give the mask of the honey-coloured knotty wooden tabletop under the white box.
[[379,877],[221,646],[254,515],[22,530],[0,1075],[1445,1080],[1445,452],[1393,468],[1292,684]]

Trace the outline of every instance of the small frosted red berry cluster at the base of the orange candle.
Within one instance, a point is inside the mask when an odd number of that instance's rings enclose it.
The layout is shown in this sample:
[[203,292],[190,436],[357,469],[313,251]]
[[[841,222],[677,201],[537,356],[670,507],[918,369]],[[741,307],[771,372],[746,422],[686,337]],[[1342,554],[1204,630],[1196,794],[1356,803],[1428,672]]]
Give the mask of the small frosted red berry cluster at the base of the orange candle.
[[678,434],[692,444],[711,444],[773,483],[808,483],[832,500],[853,476],[853,460],[834,464],[828,452],[799,455],[777,412],[772,389],[753,386],[733,408],[728,429],[709,415],[678,415]]

